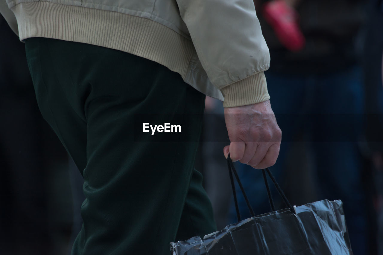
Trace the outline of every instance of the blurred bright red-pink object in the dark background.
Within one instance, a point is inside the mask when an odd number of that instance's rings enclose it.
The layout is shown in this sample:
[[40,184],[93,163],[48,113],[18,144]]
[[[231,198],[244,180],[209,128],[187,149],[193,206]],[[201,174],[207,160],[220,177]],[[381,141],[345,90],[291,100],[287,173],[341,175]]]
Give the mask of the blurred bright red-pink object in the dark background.
[[298,24],[298,14],[285,1],[273,0],[265,3],[263,15],[283,46],[290,51],[303,49],[306,40]]

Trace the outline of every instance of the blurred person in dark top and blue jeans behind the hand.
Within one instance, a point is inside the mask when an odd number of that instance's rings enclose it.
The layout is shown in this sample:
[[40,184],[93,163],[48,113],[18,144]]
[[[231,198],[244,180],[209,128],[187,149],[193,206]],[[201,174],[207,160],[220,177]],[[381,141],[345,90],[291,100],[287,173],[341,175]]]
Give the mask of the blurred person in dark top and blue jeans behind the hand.
[[[255,1],[258,12],[266,15],[260,22],[272,62],[265,75],[283,130],[280,156],[271,171],[277,181],[286,181],[293,204],[341,199],[352,250],[355,255],[368,254],[367,204],[357,143],[364,99],[357,45],[365,1],[303,0],[292,7],[285,2],[281,7],[281,2]],[[278,13],[285,16],[270,19]],[[290,27],[291,38],[278,34],[281,27]],[[298,145],[309,145],[309,150],[291,154],[299,139],[304,143]],[[270,211],[261,171],[238,167],[256,213]],[[241,196],[239,202],[243,216],[249,216]],[[234,221],[233,210],[230,223]]]

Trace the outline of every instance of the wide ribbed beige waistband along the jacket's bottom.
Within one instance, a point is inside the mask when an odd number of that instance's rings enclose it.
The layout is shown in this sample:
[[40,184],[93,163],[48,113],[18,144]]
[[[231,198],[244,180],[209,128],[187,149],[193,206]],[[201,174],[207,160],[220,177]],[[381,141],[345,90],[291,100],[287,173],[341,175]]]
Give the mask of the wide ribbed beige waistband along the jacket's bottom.
[[108,47],[153,60],[181,75],[195,51],[189,39],[146,18],[51,2],[13,8],[20,40],[45,37]]

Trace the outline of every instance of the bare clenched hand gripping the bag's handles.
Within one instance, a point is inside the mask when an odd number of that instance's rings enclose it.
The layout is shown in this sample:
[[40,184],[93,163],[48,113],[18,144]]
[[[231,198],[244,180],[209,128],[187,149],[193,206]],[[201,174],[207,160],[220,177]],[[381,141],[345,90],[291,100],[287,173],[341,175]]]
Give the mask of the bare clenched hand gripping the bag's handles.
[[223,153],[256,169],[271,167],[279,154],[282,131],[270,101],[224,109],[230,145]]

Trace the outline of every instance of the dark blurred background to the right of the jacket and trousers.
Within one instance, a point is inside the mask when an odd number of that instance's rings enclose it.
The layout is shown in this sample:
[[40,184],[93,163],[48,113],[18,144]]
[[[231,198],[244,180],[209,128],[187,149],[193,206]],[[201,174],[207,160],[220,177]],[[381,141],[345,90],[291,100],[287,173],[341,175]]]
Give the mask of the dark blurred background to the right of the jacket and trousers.
[[[382,1],[254,4],[270,49],[270,102],[282,129],[270,170],[294,205],[341,199],[354,254],[383,255]],[[221,106],[206,98],[196,161],[219,229],[237,222]],[[262,172],[238,162],[236,168],[255,214],[269,212]],[[272,195],[276,209],[286,207],[273,187]],[[242,219],[250,217],[239,190],[237,197]]]

